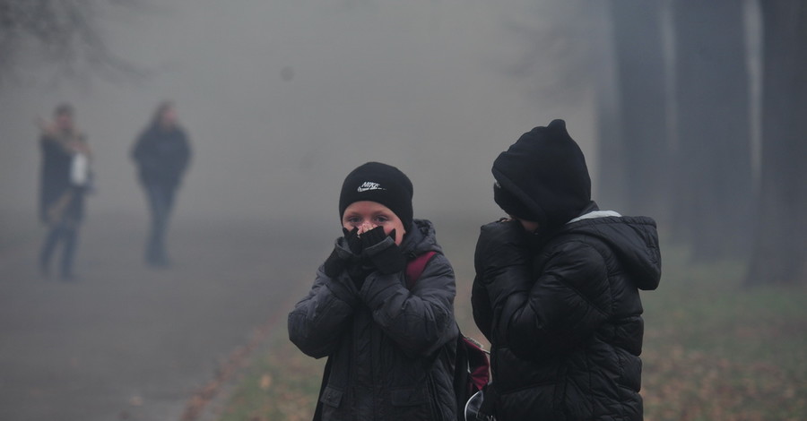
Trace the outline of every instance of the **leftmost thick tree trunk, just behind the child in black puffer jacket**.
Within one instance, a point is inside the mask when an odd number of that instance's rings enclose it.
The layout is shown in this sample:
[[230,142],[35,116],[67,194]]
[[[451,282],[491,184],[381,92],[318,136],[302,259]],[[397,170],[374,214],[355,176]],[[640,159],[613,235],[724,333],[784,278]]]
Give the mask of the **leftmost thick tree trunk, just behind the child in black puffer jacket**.
[[665,219],[669,213],[664,48],[659,0],[611,3],[617,109],[600,103],[600,180],[622,210]]

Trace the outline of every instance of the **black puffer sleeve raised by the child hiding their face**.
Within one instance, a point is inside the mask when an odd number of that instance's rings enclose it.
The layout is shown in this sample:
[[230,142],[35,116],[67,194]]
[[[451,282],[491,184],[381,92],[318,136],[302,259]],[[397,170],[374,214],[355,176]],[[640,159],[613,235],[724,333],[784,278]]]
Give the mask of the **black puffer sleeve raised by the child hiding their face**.
[[610,317],[611,298],[602,254],[584,243],[563,244],[529,291],[508,296],[498,328],[516,356],[542,358],[589,337]]

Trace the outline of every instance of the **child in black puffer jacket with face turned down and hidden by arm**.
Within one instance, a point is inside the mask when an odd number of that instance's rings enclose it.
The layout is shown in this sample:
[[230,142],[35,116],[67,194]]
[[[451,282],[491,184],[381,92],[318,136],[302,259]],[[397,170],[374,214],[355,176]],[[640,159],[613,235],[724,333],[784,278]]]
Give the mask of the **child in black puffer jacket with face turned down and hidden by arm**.
[[491,343],[485,396],[499,421],[643,418],[642,303],[657,288],[655,221],[600,211],[563,120],[493,163],[509,214],[482,227],[473,318]]

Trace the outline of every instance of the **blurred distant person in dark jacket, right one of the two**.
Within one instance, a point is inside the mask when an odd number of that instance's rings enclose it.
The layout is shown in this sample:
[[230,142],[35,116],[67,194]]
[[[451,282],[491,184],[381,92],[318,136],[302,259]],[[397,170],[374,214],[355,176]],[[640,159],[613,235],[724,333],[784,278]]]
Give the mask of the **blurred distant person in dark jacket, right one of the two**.
[[190,143],[178,123],[174,105],[164,101],[132,149],[132,159],[152,213],[145,261],[153,267],[169,266],[165,236],[174,198],[190,157]]

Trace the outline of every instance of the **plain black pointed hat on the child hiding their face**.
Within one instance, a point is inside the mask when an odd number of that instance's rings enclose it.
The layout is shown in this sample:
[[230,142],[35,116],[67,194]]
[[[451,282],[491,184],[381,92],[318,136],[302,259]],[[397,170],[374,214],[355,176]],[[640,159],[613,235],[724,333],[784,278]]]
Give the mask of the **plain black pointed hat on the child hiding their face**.
[[493,162],[493,199],[508,214],[559,228],[591,202],[586,159],[566,122],[524,133]]

